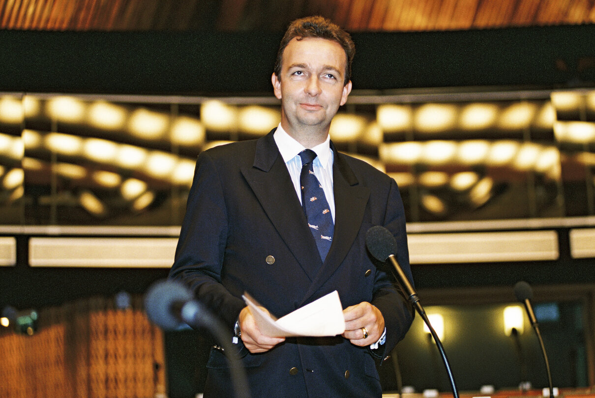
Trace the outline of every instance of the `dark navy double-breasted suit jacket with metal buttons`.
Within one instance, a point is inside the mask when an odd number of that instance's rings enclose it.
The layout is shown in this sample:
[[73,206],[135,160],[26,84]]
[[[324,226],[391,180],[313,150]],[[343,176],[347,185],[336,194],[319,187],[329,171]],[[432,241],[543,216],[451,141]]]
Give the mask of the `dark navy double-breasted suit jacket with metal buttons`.
[[[388,228],[411,278],[397,184],[331,143],[335,229],[322,264],[273,132],[199,155],[170,277],[190,286],[230,330],[244,292],[277,317],[333,290],[343,308],[370,302],[386,322],[386,343],[375,350],[384,357],[414,314],[390,270],[369,256],[365,234],[374,225]],[[374,353],[341,336],[288,338],[265,353],[243,351],[252,397],[381,396]],[[207,367],[205,397],[231,396],[223,353],[212,350]]]

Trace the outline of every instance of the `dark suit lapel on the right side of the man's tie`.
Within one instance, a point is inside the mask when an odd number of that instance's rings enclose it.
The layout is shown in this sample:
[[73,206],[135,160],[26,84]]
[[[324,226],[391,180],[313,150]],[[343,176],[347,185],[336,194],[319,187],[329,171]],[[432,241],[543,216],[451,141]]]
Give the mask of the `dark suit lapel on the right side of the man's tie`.
[[358,178],[345,161],[344,155],[337,152],[334,146],[331,148],[333,148],[334,152],[335,227],[333,244],[312,286],[303,297],[302,303],[317,292],[345,260],[349,249],[358,236],[370,194],[368,187],[359,184]]

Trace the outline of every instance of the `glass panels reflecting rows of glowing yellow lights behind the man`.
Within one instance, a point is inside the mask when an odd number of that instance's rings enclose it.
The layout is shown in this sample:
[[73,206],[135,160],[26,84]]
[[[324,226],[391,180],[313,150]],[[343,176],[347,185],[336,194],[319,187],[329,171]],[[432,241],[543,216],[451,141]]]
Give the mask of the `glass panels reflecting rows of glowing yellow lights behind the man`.
[[[595,214],[595,94],[353,93],[340,151],[409,222]],[[277,126],[273,96],[0,94],[0,224],[180,225],[196,156]]]

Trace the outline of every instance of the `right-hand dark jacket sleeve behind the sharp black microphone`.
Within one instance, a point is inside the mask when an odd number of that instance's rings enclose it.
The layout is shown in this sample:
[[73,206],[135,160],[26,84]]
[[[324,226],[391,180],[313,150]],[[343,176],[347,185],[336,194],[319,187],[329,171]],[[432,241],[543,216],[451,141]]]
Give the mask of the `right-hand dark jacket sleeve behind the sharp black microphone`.
[[[411,283],[413,278],[409,266],[409,249],[405,226],[405,210],[396,182],[391,178],[390,190],[387,198],[386,214],[383,227],[391,231],[397,241],[397,261]],[[411,326],[415,311],[408,300],[403,297],[396,287],[387,265],[381,264],[375,275],[372,305],[376,306],[384,317],[386,326],[386,342],[378,350],[372,352],[375,356],[384,358],[396,344],[405,337]]]

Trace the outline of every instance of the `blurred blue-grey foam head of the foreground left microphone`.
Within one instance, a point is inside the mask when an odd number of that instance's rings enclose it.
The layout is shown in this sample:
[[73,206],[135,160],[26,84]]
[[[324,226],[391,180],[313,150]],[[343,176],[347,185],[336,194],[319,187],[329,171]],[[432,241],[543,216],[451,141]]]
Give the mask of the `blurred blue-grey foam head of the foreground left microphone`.
[[158,281],[145,294],[145,311],[163,330],[175,330],[182,322],[174,315],[172,306],[192,299],[194,294],[183,284],[173,280]]

